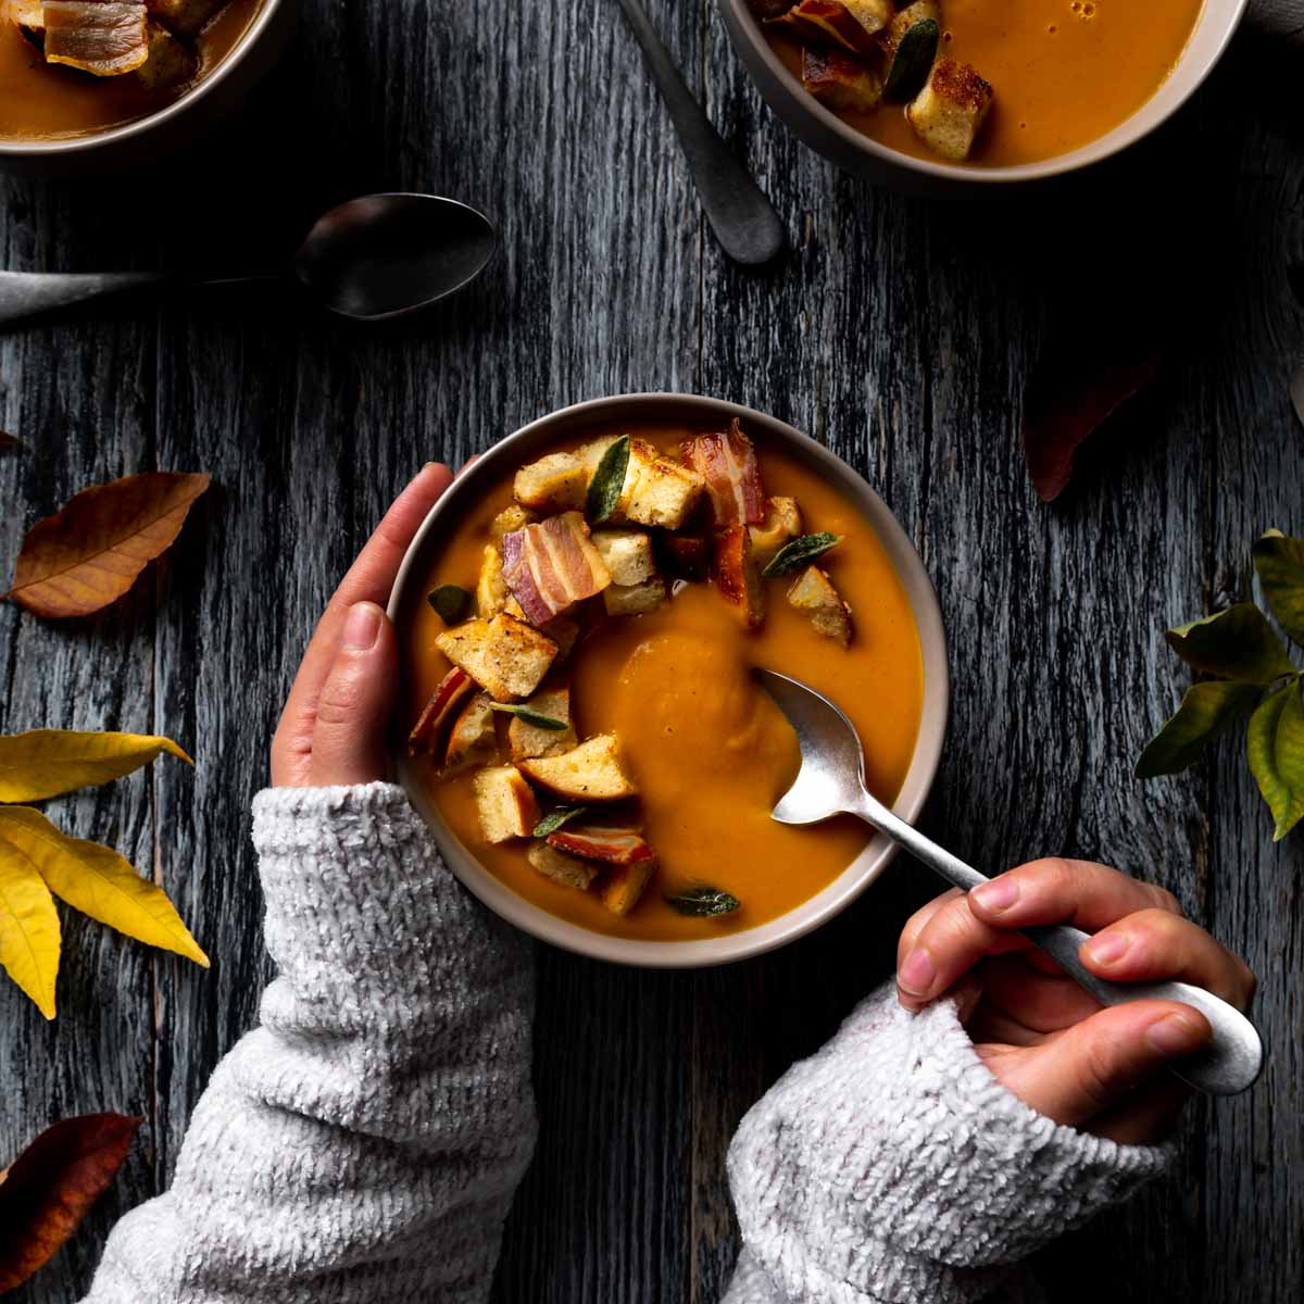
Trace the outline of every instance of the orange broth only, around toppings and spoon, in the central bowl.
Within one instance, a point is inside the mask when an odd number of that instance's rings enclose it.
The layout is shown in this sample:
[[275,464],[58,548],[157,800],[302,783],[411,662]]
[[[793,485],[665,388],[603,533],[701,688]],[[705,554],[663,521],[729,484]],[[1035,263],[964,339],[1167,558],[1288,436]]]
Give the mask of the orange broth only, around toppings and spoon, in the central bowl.
[[[634,433],[672,451],[690,432]],[[526,859],[527,842],[482,844],[472,775],[441,778],[432,760],[419,762],[437,807],[472,854],[519,896],[585,928],[664,941],[751,928],[814,896],[865,848],[866,828],[850,818],[811,828],[769,818],[801,760],[795,735],[752,685],[748,666],[784,670],[829,694],[855,722],[870,784],[884,801],[895,799],[910,765],[923,666],[901,582],[870,524],[838,493],[764,443],[758,451],[768,493],[797,498],[808,531],[846,536],[827,567],[853,608],[855,638],[842,649],[816,634],[784,600],[790,580],[767,582],[765,622],[751,634],[705,583],[682,587],[656,612],[593,622],[566,668],[572,716],[582,739],[605,732],[621,739],[640,789],[632,814],[661,861],[627,917],[609,913],[596,892],[542,878]],[[475,587],[489,524],[510,502],[505,480],[459,528],[426,576],[430,588]],[[406,630],[404,725],[449,669],[434,645],[443,629],[422,602]],[[506,758],[502,741],[501,733]],[[664,895],[691,884],[732,892],[742,909],[724,919],[685,918]]]

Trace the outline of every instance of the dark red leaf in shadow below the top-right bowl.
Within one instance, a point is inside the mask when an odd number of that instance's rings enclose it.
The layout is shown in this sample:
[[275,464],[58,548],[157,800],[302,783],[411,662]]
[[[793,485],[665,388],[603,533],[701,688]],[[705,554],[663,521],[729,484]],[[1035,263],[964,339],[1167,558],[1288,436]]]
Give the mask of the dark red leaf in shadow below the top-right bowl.
[[1148,385],[1162,361],[1159,348],[1101,356],[1090,346],[1038,360],[1024,395],[1024,459],[1043,502],[1064,490],[1078,445]]

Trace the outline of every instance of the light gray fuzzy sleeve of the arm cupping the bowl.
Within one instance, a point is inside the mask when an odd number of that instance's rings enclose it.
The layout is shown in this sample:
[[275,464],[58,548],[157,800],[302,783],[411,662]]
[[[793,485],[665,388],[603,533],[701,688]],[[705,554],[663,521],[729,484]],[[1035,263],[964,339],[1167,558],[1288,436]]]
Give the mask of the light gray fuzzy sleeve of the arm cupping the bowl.
[[535,1144],[529,947],[390,784],[253,824],[279,977],[86,1304],[480,1304]]

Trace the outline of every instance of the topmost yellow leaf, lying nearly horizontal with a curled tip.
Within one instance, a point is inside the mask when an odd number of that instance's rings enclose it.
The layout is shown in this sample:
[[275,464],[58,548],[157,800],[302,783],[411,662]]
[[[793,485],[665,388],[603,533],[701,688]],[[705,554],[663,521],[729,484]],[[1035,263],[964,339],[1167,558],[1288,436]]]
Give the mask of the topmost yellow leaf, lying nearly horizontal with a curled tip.
[[171,738],[150,734],[33,729],[0,734],[0,802],[39,802],[121,778],[167,752],[194,762]]

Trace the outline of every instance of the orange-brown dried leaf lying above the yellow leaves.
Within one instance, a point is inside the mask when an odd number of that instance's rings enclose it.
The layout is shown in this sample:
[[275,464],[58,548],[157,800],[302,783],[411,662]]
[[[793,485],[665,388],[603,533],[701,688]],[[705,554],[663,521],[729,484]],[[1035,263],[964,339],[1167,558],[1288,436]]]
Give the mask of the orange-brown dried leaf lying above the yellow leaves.
[[176,539],[209,476],[151,471],[96,485],[38,522],[5,595],[35,615],[90,615],[120,599]]

